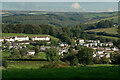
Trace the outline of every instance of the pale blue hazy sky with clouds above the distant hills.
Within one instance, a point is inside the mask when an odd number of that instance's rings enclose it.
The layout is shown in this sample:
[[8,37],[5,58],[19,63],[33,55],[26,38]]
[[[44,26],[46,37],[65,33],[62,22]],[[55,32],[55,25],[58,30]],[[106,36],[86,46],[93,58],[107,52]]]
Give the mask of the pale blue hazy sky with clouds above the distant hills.
[[117,2],[3,2],[3,10],[34,10],[52,12],[113,12]]

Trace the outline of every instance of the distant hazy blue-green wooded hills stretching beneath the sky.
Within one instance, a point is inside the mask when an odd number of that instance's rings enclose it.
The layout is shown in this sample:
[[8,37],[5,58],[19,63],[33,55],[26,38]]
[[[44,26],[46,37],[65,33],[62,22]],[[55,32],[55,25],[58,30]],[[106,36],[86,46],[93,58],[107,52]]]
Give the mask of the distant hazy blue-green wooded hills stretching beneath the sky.
[[100,20],[113,20],[117,23],[117,12],[45,12],[45,11],[3,11],[3,23],[12,24],[50,24],[59,27],[70,27],[79,24],[91,24]]

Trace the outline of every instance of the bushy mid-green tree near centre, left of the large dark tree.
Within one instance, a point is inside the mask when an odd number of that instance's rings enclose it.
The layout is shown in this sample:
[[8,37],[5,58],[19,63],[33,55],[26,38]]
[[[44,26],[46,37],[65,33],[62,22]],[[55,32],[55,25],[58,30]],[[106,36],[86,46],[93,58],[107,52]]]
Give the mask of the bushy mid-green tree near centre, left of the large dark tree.
[[49,61],[59,61],[60,59],[58,50],[56,48],[47,49],[46,54]]

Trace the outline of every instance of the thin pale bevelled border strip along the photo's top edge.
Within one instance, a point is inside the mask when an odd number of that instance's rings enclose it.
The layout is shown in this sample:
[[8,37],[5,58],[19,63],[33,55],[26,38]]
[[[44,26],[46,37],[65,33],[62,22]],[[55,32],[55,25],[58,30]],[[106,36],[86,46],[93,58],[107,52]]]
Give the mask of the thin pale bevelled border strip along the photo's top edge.
[[2,2],[119,2],[120,0],[0,0]]

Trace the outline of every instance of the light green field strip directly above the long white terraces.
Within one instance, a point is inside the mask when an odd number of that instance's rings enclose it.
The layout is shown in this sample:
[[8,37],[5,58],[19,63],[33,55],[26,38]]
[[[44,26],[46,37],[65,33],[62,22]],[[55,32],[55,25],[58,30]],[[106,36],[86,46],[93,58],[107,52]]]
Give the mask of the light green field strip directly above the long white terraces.
[[[12,36],[46,36],[45,34],[24,34],[24,33],[2,33],[2,37],[12,37]],[[51,39],[59,40],[53,36],[50,36]]]

